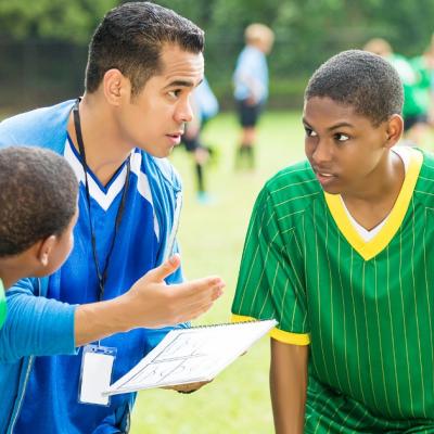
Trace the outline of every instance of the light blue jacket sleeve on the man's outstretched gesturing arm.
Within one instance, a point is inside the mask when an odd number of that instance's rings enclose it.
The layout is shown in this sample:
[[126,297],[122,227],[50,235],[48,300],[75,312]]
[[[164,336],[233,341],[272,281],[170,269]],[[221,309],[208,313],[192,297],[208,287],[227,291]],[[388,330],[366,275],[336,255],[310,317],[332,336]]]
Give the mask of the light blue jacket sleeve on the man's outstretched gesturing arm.
[[0,361],[25,356],[76,354],[76,306],[35,296],[37,279],[23,279],[7,292],[8,317],[0,330]]

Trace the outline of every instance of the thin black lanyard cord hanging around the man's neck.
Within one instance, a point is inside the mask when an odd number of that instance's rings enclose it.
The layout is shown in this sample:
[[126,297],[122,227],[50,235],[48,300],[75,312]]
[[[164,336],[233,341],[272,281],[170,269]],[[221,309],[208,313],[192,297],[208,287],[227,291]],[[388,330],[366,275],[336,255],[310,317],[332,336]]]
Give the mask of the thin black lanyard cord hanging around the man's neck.
[[131,170],[131,165],[130,165],[130,157],[127,159],[127,177],[125,179],[125,184],[123,189],[123,195],[120,199],[120,204],[119,208],[117,209],[116,214],[116,220],[115,220],[115,233],[113,234],[113,240],[112,240],[112,245],[110,246],[107,258],[105,260],[104,268],[101,272],[100,268],[100,263],[98,260],[98,254],[97,254],[97,239],[94,235],[93,231],[93,226],[92,226],[92,218],[91,218],[91,210],[90,210],[90,193],[89,193],[89,182],[88,182],[88,164],[86,162],[86,152],[85,152],[85,143],[82,142],[82,135],[81,135],[81,123],[80,123],[80,113],[79,113],[79,103],[80,99],[77,99],[77,101],[74,104],[73,113],[74,113],[74,127],[75,127],[75,133],[77,136],[77,144],[78,144],[78,150],[81,155],[81,165],[82,169],[85,170],[85,183],[86,183],[86,201],[88,204],[88,210],[89,210],[89,229],[90,229],[90,238],[91,238],[91,243],[92,243],[92,253],[93,253],[93,261],[97,270],[97,277],[98,277],[98,283],[100,286],[99,291],[99,296],[98,299],[101,301],[104,296],[104,286],[105,282],[107,280],[107,271],[108,271],[108,264],[110,264],[110,258],[112,257],[113,248],[115,246],[115,241],[116,241],[116,235],[118,232],[118,229],[120,227],[123,214],[125,210],[125,202],[127,199],[127,192],[128,192],[128,186],[129,186],[129,175]]

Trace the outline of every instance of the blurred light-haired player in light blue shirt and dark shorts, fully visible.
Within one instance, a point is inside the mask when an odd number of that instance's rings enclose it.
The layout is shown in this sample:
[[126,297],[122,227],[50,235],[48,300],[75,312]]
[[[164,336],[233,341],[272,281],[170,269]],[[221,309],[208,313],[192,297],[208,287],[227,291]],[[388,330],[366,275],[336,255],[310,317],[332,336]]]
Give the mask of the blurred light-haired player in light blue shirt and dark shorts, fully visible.
[[273,33],[264,24],[251,24],[244,31],[245,47],[240,53],[233,74],[234,98],[242,128],[235,166],[247,163],[254,167],[256,124],[268,98],[268,66],[266,55],[271,51]]

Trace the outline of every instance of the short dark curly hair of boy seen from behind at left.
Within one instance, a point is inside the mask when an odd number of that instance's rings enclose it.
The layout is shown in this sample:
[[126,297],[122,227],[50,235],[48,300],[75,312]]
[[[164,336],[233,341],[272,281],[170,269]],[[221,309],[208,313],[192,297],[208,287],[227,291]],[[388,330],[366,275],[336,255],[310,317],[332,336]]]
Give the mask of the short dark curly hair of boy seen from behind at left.
[[0,257],[17,255],[69,225],[77,208],[77,178],[52,151],[0,150]]

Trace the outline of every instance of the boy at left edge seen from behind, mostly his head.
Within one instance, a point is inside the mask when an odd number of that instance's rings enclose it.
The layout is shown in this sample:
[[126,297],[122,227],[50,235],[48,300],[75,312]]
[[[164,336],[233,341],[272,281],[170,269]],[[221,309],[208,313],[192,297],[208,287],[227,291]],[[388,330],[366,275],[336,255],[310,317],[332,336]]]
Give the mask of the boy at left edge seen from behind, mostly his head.
[[4,290],[54,272],[74,243],[77,178],[61,155],[39,148],[0,150],[0,327]]

